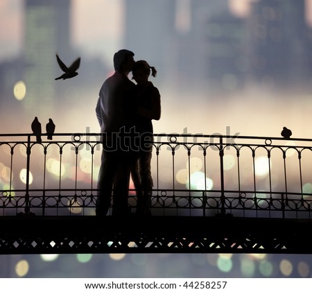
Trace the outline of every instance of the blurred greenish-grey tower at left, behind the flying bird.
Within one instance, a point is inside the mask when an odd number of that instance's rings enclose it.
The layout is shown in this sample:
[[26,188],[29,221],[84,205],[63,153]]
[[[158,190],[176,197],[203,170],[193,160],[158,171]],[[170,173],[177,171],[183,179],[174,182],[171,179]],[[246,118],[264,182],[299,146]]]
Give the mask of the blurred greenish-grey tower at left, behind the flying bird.
[[[24,108],[32,112],[53,110],[57,83],[62,74],[55,53],[65,63],[73,62],[70,52],[71,0],[26,0],[24,12],[24,77],[27,95]],[[53,56],[53,58],[51,58]]]

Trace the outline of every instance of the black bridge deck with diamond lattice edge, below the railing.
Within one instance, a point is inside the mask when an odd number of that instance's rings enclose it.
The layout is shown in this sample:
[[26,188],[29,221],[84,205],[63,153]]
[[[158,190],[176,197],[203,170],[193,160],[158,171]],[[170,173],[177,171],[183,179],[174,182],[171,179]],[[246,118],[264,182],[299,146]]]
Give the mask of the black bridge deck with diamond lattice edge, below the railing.
[[3,216],[0,254],[311,254],[306,219],[232,216]]

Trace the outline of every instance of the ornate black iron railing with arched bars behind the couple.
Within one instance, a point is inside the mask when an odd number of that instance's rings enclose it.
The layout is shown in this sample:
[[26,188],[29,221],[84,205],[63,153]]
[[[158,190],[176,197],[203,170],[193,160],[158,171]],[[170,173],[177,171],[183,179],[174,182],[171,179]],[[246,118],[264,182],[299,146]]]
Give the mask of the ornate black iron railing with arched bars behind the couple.
[[[94,215],[101,150],[97,133],[0,135],[0,216]],[[311,218],[312,139],[157,134],[151,167],[154,216]]]

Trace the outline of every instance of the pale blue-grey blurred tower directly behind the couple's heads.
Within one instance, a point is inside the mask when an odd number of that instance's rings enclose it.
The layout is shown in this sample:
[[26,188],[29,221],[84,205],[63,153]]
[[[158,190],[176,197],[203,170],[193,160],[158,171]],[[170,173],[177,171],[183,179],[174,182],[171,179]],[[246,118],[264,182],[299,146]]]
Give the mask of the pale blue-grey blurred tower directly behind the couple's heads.
[[125,48],[135,53],[135,60],[147,60],[162,74],[171,62],[174,34],[175,0],[132,0],[125,5]]

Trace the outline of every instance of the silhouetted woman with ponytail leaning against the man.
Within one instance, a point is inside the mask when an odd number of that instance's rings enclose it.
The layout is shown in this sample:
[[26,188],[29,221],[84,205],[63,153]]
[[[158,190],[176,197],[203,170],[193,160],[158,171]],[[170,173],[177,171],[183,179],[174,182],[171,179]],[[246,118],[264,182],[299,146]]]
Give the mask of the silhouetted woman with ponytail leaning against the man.
[[141,155],[137,163],[132,165],[131,178],[137,191],[137,214],[150,215],[150,199],[153,189],[153,178],[150,171],[150,160],[153,152],[153,123],[161,115],[160,94],[157,87],[148,80],[150,73],[156,77],[155,67],[150,67],[145,60],[135,62],[132,76],[135,86],[137,116],[136,132],[140,133]]

